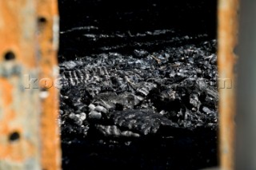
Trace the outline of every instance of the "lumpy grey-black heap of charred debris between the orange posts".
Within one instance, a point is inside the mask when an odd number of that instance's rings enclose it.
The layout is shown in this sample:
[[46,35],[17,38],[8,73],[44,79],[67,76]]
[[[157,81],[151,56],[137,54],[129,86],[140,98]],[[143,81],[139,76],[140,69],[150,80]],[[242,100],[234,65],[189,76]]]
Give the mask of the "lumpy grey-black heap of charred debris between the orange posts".
[[178,41],[155,51],[136,45],[128,54],[105,49],[63,61],[62,134],[138,137],[216,130],[216,41],[206,37],[172,38]]

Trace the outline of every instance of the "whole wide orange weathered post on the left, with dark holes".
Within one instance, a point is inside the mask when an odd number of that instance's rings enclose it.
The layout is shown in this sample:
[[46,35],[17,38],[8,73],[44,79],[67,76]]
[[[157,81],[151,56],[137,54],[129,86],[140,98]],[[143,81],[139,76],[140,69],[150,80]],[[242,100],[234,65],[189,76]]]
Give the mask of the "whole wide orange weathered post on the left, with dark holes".
[[[0,169],[60,169],[57,1],[0,0]],[[47,79],[48,80],[48,79]]]

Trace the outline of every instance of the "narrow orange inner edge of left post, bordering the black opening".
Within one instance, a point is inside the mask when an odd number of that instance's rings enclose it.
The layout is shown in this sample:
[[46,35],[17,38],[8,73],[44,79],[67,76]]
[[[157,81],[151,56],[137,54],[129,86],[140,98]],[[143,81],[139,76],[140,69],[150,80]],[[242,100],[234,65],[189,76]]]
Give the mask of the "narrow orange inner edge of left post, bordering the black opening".
[[58,127],[58,1],[38,0],[42,169],[61,169]]

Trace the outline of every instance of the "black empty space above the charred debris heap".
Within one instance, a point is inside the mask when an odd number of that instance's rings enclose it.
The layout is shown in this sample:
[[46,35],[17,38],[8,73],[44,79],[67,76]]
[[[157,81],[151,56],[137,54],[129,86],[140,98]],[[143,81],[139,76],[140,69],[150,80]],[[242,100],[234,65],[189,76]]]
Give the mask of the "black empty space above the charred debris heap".
[[215,38],[216,4],[216,0],[62,0],[60,52],[74,58],[116,49],[129,53],[127,49],[138,46],[154,50],[162,45],[158,41],[168,42],[177,34]]

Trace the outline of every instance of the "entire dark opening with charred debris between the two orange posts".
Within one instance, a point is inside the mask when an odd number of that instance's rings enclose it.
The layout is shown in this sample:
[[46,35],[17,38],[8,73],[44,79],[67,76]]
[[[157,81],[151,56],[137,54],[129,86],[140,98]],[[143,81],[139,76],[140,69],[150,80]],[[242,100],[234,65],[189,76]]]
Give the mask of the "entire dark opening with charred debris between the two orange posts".
[[216,2],[171,3],[59,1],[63,169],[217,165]]

